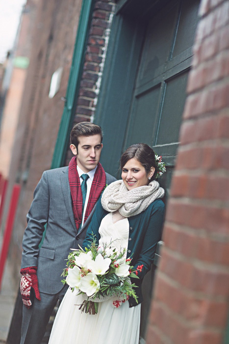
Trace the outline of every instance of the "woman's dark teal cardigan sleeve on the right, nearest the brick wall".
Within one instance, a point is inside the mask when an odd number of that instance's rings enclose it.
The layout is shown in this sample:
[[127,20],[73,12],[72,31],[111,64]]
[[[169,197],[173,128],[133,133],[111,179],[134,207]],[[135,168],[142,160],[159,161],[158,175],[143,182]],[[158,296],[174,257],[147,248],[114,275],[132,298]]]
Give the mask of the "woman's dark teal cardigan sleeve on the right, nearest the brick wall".
[[[146,273],[151,269],[156,245],[161,239],[162,228],[164,223],[165,207],[162,201],[159,201],[152,208],[148,228],[143,238],[143,245],[137,262],[134,264],[133,270],[137,269],[138,265],[143,265],[142,271],[138,272],[138,277],[143,279]],[[133,282],[136,280],[134,279]]]

